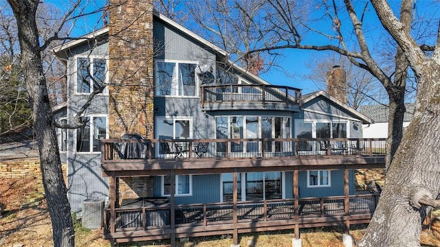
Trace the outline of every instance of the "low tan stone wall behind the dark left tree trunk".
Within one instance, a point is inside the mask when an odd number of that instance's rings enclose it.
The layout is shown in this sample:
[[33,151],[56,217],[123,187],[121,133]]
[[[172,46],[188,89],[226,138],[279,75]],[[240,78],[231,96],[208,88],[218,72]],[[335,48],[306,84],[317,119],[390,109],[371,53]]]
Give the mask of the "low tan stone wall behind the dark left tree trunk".
[[[63,176],[66,181],[67,164],[62,164]],[[0,178],[25,178],[32,177],[37,179],[37,189],[43,193],[43,177],[41,176],[40,159],[14,159],[8,161],[0,161]]]

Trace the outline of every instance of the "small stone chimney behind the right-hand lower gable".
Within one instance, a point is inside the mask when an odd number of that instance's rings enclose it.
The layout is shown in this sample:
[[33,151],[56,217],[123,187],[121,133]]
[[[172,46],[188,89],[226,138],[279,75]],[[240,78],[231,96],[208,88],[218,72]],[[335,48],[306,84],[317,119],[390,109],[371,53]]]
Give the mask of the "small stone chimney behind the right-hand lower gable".
[[339,65],[335,65],[331,71],[327,71],[327,93],[344,104],[348,102],[345,69]]

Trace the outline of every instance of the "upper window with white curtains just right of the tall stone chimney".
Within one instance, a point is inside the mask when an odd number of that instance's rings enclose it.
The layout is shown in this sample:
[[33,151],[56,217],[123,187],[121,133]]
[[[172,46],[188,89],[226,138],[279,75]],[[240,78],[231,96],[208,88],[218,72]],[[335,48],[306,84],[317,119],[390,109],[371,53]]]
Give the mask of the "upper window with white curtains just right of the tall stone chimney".
[[156,61],[156,95],[196,95],[195,69],[197,63]]

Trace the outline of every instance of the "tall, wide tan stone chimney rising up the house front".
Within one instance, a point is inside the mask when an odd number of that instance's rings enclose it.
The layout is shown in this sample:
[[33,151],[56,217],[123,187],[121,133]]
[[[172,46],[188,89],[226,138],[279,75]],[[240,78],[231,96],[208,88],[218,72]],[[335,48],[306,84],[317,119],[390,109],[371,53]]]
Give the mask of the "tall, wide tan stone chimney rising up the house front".
[[153,139],[153,0],[109,0],[109,135]]

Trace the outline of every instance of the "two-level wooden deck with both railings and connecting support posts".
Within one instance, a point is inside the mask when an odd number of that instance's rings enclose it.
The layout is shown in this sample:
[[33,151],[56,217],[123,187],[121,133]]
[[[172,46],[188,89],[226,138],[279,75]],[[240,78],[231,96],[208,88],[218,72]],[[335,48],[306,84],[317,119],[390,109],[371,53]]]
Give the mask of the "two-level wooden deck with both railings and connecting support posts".
[[[203,145],[201,145],[201,143]],[[179,148],[177,148],[177,145]],[[200,149],[201,146],[205,148]],[[382,168],[385,139],[191,139],[102,140],[102,172],[109,176],[110,207],[104,237],[112,242],[135,242],[178,237],[368,223],[377,195],[349,195],[349,169]],[[300,198],[299,171],[341,169],[344,195]],[[293,198],[239,202],[239,172],[292,172]],[[175,175],[233,174],[232,202],[175,204]],[[118,207],[117,181],[124,176],[170,176],[169,201],[154,206]],[[137,206],[136,206],[137,205]]]

